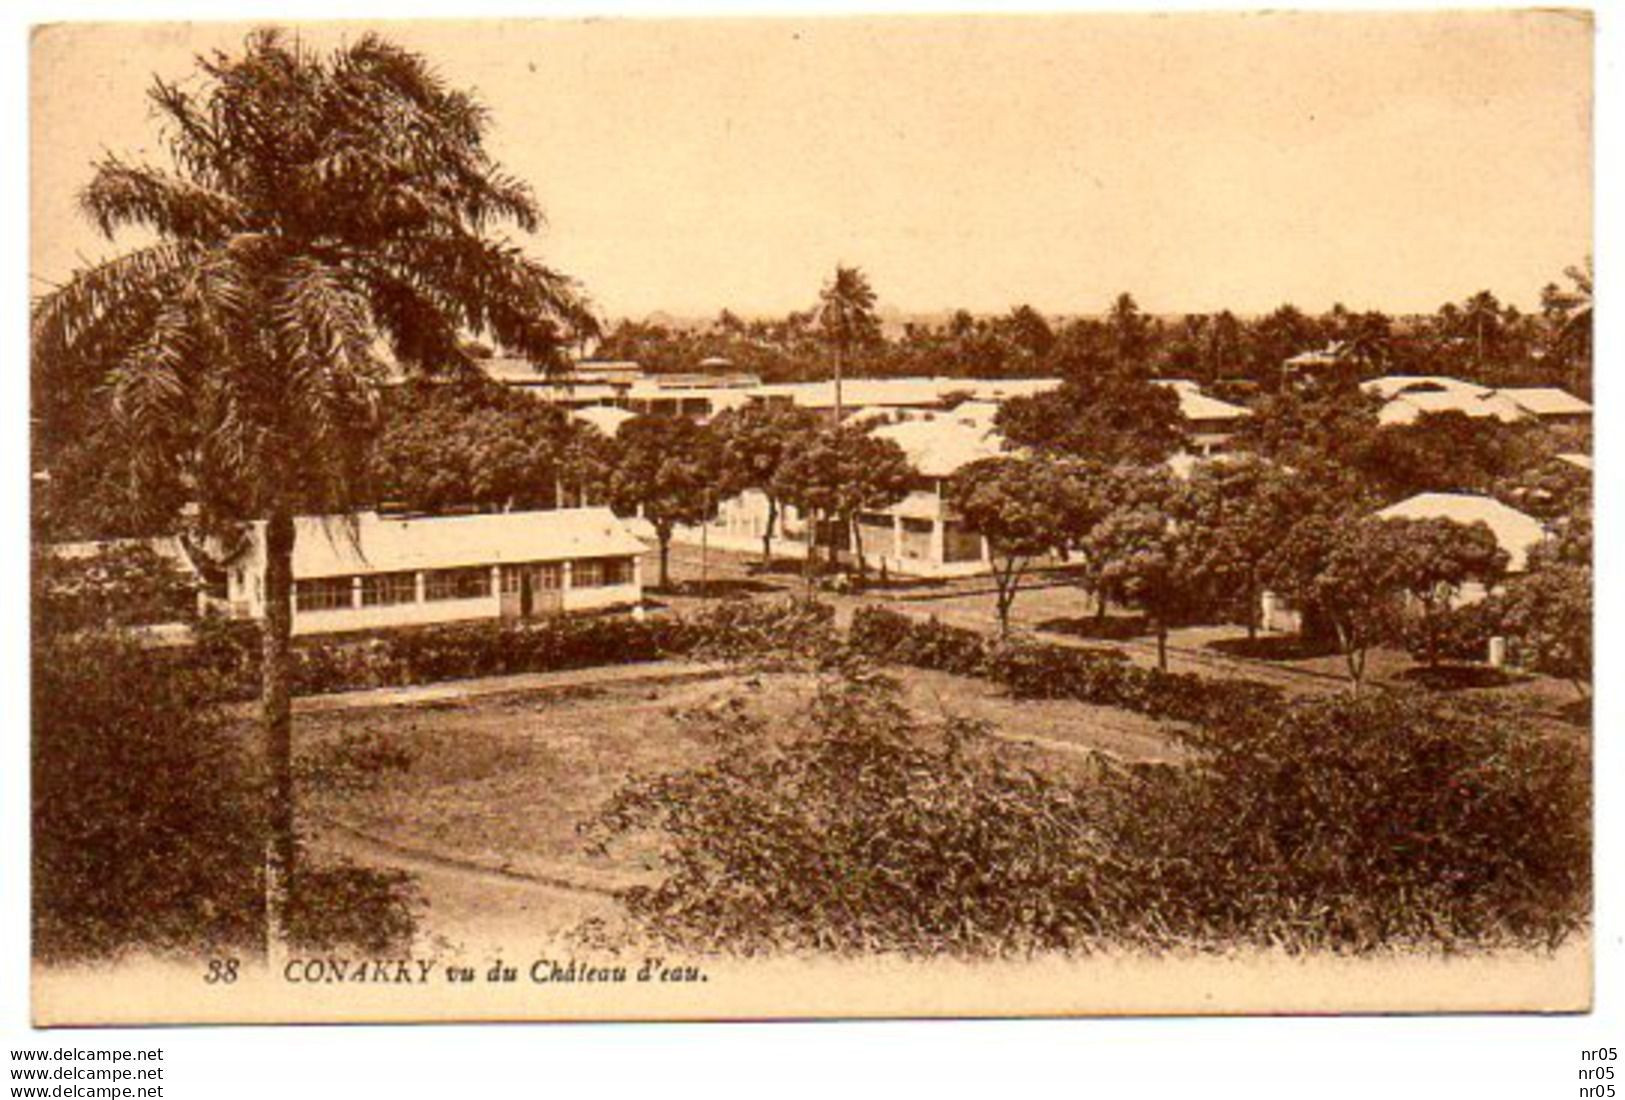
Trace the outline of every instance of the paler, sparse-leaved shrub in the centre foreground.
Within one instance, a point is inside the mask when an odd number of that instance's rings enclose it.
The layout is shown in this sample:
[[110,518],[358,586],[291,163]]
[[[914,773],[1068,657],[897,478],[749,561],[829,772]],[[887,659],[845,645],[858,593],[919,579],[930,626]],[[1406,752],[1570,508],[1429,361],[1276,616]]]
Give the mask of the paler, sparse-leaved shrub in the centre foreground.
[[[1081,949],[1095,923],[1086,803],[1012,769],[977,726],[918,725],[873,678],[827,681],[788,739],[743,707],[697,712],[713,764],[629,783],[603,845],[666,842],[621,894],[653,936],[738,954],[1003,955]],[[778,736],[775,736],[778,734]]]

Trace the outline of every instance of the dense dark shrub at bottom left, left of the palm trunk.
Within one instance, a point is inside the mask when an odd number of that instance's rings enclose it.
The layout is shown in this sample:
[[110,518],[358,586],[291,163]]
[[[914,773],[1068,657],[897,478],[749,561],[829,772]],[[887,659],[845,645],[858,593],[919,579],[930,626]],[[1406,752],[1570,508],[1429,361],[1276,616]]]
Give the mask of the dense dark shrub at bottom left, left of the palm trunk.
[[216,689],[130,639],[36,640],[37,957],[262,941],[257,783]]

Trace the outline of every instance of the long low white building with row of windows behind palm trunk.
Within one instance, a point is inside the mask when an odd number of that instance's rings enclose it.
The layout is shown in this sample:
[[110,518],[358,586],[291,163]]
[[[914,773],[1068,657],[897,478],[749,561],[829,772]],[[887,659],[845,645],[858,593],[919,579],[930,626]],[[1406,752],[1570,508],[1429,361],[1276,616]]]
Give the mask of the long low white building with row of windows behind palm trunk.
[[[644,543],[609,509],[299,517],[294,634],[635,608]],[[226,562],[231,614],[265,616],[265,523]]]

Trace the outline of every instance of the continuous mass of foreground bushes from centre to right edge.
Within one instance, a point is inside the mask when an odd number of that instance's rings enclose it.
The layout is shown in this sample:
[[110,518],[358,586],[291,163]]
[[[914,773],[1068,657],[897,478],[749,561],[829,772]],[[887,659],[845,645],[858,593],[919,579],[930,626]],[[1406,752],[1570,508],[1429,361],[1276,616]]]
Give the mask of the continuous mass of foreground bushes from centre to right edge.
[[717,759],[629,782],[595,825],[663,850],[621,899],[689,951],[1552,947],[1589,913],[1583,747],[1425,697],[1251,708],[1190,765],[1087,783],[873,674],[788,728],[744,702],[691,720]]

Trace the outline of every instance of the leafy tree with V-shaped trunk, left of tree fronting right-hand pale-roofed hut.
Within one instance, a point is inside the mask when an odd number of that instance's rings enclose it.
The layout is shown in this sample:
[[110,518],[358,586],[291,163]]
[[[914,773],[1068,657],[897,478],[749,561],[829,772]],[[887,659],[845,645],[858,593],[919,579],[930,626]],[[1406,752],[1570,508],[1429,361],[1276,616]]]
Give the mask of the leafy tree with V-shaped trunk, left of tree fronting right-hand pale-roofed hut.
[[1399,635],[1404,552],[1398,525],[1342,513],[1306,517],[1276,554],[1271,585],[1331,626],[1355,692],[1372,647]]

